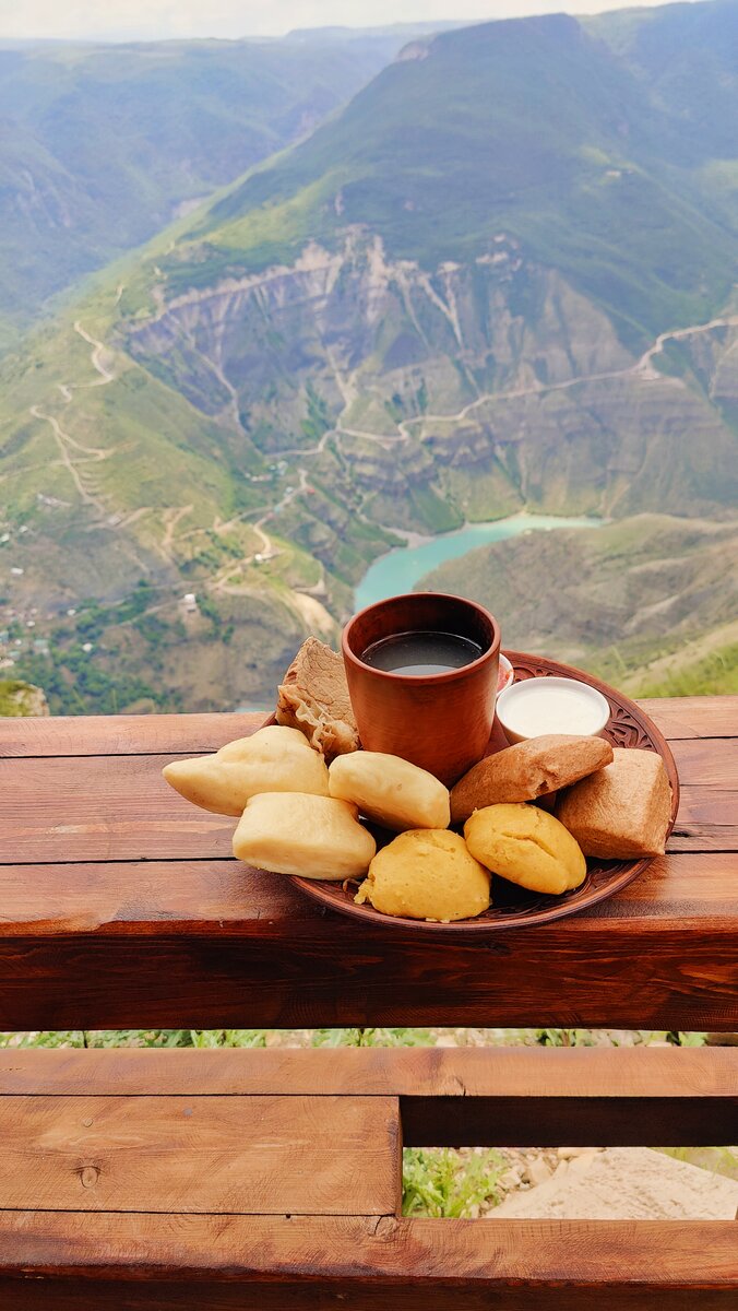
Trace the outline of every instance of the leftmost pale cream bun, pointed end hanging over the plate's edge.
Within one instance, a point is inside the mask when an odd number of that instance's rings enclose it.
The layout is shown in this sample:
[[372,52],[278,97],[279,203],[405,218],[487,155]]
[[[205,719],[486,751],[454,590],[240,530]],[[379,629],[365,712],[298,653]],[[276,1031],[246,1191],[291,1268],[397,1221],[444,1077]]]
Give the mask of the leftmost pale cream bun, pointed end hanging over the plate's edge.
[[328,767],[298,729],[270,724],[215,755],[172,760],[161,771],[186,801],[219,815],[240,815],[257,792],[328,796]]

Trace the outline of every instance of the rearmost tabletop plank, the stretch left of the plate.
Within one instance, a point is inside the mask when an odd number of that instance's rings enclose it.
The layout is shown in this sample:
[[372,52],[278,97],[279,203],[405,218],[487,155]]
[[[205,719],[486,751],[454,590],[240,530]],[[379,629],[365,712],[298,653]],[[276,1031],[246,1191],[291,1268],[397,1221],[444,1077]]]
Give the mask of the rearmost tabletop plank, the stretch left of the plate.
[[1,718],[1,756],[197,755],[248,737],[269,711],[245,714],[68,714]]

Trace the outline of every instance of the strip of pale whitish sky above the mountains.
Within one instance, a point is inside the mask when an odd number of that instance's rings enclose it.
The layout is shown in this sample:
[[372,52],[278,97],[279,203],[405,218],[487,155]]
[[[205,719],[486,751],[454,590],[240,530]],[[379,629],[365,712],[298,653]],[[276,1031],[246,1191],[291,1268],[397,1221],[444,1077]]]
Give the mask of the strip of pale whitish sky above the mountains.
[[[641,5],[662,0],[640,0]],[[599,13],[638,0],[0,0],[0,38],[152,41],[282,35],[292,28]]]

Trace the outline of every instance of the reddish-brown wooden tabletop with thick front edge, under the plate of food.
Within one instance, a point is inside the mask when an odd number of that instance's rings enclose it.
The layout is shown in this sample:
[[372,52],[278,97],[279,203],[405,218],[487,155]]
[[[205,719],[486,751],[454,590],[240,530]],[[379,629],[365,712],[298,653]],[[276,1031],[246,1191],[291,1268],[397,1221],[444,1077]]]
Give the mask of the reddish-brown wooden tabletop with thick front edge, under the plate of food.
[[0,721],[0,1028],[735,1029],[738,697],[648,708],[683,784],[670,855],[589,912],[463,945],[229,859],[235,821],[160,768],[258,714]]

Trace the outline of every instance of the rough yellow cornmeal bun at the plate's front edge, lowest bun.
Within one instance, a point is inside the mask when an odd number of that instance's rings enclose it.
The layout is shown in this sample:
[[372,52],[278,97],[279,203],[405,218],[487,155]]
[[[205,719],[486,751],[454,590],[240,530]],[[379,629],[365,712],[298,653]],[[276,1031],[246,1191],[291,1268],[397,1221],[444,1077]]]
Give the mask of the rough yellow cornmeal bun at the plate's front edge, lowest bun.
[[489,873],[459,834],[413,829],[376,853],[354,901],[384,915],[471,919],[489,907]]

